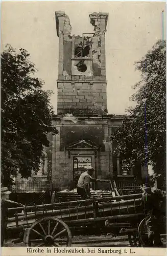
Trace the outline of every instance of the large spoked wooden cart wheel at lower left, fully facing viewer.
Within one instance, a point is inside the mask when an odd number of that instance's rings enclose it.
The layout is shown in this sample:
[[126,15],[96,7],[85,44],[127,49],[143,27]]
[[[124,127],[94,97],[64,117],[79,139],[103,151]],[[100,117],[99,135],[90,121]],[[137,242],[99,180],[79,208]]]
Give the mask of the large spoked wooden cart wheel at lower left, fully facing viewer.
[[26,246],[71,246],[69,227],[56,217],[44,217],[35,221],[27,230]]

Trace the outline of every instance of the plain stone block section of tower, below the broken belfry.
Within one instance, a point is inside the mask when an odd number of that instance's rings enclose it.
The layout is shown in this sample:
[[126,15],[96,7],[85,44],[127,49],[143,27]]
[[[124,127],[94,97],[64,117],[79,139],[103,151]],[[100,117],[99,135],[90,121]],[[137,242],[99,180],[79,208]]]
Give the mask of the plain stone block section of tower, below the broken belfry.
[[57,87],[58,115],[73,110],[92,111],[94,114],[107,112],[106,82],[62,81],[57,83]]

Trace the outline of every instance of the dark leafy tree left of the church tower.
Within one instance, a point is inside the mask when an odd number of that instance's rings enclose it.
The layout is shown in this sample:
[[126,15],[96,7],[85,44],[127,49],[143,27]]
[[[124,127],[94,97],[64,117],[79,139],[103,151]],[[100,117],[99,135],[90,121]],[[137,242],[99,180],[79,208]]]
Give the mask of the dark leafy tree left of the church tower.
[[47,134],[52,127],[51,92],[43,91],[34,63],[25,49],[18,53],[10,45],[1,54],[1,172],[4,183],[10,177],[28,178],[37,172]]

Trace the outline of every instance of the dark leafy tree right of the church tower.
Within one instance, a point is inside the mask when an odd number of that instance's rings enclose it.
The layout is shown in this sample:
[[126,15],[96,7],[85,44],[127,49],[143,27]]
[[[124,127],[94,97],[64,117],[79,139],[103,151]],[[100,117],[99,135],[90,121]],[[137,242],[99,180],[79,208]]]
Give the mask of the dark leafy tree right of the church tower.
[[151,164],[165,176],[166,169],[166,44],[158,41],[144,58],[135,63],[141,80],[134,86],[129,115],[111,136],[114,154],[121,154],[134,167],[136,161]]

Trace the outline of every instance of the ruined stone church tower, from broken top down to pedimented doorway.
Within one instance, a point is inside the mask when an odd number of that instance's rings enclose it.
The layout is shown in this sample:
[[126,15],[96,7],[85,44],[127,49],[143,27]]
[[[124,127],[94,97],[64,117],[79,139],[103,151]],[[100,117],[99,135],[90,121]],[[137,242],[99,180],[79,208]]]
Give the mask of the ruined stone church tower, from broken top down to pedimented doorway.
[[[89,15],[92,31],[71,35],[68,16],[56,12],[59,37],[57,116],[59,134],[53,137],[52,180],[56,187],[76,188],[85,166],[95,178],[113,175],[107,141],[120,120],[107,114],[105,32],[107,13]],[[100,187],[100,184],[98,184]]]

